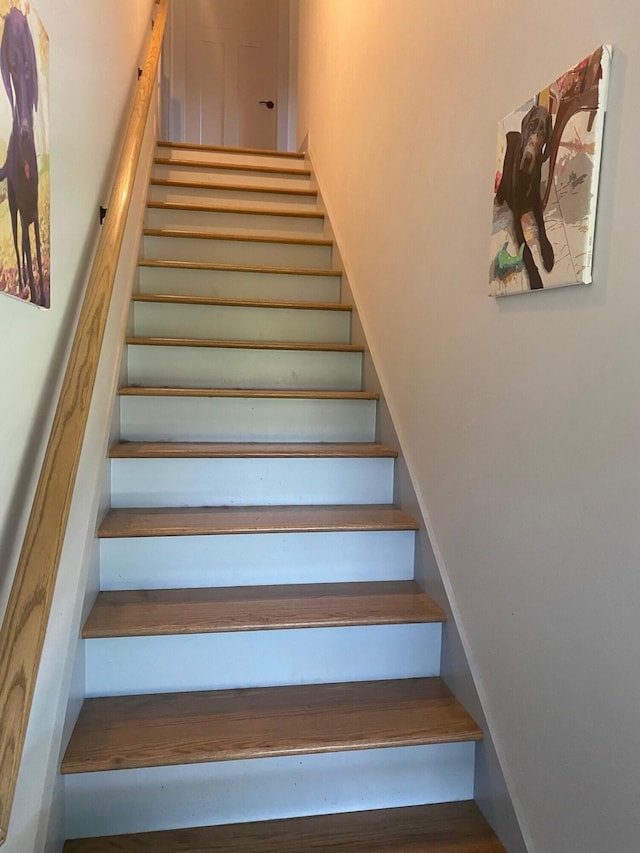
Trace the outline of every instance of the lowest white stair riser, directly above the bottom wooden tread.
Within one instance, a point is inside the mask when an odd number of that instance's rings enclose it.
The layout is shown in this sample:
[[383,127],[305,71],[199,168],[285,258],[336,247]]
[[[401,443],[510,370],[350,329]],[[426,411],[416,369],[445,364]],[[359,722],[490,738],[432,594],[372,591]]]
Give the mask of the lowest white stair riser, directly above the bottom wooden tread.
[[449,743],[74,774],[67,837],[467,800],[474,755]]

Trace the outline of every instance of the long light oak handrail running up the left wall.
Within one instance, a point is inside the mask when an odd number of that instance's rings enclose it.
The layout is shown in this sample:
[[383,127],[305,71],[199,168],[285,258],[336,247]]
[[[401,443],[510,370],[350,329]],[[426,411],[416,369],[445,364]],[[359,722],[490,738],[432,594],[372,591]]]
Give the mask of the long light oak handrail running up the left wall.
[[118,256],[155,87],[169,0],[160,0],[158,6],[109,199],[109,215],[102,226],[89,275],[0,631],[0,844],[7,837]]

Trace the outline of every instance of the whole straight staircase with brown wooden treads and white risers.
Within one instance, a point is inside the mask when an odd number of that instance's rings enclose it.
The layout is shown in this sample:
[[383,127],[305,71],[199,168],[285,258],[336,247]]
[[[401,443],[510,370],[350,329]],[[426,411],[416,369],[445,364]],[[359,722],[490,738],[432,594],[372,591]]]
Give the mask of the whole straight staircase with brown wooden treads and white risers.
[[504,853],[311,186],[158,147],[66,853]]

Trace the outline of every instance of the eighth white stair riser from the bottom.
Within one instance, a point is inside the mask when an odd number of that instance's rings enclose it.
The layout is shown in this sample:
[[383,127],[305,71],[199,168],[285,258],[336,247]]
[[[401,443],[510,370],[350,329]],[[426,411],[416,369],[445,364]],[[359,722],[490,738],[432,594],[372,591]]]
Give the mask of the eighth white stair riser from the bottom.
[[138,282],[140,293],[296,302],[340,301],[339,276],[141,266]]

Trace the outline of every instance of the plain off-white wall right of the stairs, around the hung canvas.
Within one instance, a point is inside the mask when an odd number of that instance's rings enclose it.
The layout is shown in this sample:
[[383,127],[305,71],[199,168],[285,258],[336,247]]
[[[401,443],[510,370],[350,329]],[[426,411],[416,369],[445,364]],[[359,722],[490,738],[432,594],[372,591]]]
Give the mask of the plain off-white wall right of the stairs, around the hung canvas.
[[[298,139],[529,849],[633,853],[640,5],[301,0],[300,27]],[[603,42],[594,283],[490,299],[497,122]]]

